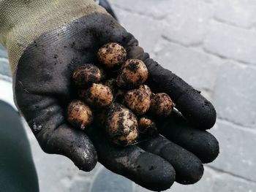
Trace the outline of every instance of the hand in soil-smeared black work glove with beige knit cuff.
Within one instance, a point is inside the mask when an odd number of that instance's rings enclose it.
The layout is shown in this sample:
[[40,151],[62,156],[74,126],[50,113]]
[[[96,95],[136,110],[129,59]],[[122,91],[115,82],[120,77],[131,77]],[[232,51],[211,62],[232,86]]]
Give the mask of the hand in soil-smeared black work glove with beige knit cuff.
[[[17,4],[18,14],[24,15],[10,15],[11,6]],[[217,139],[205,131],[214,126],[214,107],[149,58],[116,20],[90,0],[0,0],[0,7],[0,26],[4,26],[0,37],[12,64],[15,101],[42,150],[65,155],[84,171],[93,169],[98,159],[153,191],[170,188],[175,180],[182,184],[200,180],[202,163],[219,153]],[[127,49],[128,58],[143,60],[148,85],[168,93],[186,120],[173,112],[158,124],[164,137],[126,148],[111,145],[96,126],[86,133],[69,126],[65,114],[74,93],[72,72],[81,64],[95,64],[97,50],[107,42],[118,42]]]

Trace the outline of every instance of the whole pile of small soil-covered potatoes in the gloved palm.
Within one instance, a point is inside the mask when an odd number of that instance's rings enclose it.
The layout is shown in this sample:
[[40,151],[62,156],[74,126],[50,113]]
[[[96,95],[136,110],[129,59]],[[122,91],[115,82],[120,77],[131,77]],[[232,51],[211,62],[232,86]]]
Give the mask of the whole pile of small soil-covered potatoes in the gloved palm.
[[166,93],[152,93],[144,82],[148,69],[143,61],[128,59],[118,43],[102,46],[100,65],[85,64],[75,69],[72,78],[78,89],[78,100],[69,103],[67,120],[85,129],[93,121],[105,128],[116,145],[135,144],[140,135],[157,131],[154,120],[167,117],[174,104]]

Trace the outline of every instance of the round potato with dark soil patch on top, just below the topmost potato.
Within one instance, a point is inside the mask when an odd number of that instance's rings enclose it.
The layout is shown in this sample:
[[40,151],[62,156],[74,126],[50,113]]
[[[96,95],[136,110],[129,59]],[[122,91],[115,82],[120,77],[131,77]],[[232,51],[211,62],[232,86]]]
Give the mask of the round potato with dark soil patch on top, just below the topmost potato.
[[143,61],[129,59],[122,66],[117,77],[117,85],[121,88],[138,88],[148,79],[148,69]]

